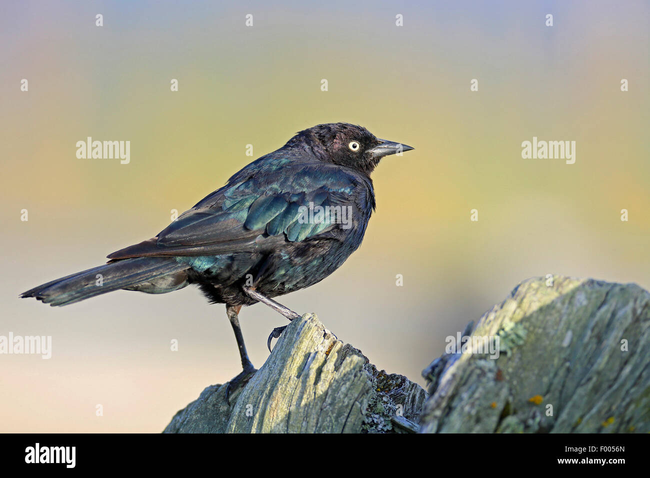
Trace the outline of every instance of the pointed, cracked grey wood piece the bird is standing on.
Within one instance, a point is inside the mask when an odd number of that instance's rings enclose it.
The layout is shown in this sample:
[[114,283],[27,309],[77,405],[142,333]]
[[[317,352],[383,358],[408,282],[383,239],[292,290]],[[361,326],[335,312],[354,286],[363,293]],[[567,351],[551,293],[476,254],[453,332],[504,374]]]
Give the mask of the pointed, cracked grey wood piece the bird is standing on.
[[283,332],[265,364],[225,399],[206,388],[165,432],[415,432],[426,393],[408,378],[378,371],[337,340],[314,314]]

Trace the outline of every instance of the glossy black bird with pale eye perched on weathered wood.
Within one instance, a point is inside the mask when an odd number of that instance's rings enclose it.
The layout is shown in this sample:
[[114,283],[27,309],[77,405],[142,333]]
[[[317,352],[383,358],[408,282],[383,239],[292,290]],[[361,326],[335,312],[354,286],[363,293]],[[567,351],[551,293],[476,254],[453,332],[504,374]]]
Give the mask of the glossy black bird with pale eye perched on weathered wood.
[[[244,166],[155,237],[20,297],[65,306],[118,289],[161,294],[197,285],[209,302],[226,304],[235,333],[242,372],[229,382],[229,400],[256,371],[239,323],[242,306],[261,302],[289,321],[299,318],[274,297],[317,284],[359,248],[376,209],[370,174],[384,156],[409,150],[354,124],[309,127]],[[272,330],[269,350],[285,328]]]

